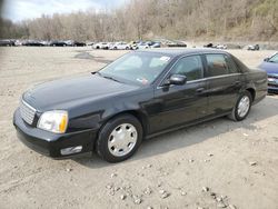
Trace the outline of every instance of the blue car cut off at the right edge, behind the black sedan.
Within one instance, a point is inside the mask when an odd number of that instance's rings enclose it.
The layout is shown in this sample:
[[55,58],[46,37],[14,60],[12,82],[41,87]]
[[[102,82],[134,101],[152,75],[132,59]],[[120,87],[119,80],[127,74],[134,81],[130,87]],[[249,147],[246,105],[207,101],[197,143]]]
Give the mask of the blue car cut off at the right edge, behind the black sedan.
[[259,66],[268,76],[268,91],[278,93],[278,52],[270,58],[266,58]]

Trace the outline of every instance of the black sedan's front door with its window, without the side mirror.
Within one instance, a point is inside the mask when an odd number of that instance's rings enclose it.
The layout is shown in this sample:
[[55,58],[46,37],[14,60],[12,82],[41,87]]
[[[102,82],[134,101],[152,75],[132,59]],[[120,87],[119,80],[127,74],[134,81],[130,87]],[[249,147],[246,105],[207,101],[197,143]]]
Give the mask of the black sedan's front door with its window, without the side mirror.
[[186,84],[162,86],[155,90],[155,100],[159,103],[156,113],[150,117],[152,133],[168,128],[192,122],[207,115],[207,82],[203,80],[203,66],[200,56],[189,56],[179,59],[171,74],[187,77]]

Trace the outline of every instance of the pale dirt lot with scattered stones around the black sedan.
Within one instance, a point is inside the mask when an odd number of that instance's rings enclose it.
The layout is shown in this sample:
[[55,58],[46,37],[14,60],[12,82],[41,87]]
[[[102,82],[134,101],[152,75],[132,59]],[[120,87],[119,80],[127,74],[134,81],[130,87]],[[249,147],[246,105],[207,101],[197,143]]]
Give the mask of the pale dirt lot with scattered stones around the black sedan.
[[[0,49],[1,209],[278,208],[275,96],[255,106],[242,122],[220,118],[157,137],[118,165],[96,155],[52,160],[17,139],[12,113],[27,88],[89,73],[121,53],[89,48]],[[231,53],[256,67],[272,51]]]

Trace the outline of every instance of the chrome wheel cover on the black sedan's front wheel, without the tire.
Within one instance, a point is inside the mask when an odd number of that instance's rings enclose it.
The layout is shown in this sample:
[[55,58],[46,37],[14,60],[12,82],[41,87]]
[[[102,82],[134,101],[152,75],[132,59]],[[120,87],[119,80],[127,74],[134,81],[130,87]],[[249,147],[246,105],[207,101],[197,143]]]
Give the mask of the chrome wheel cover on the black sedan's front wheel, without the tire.
[[138,139],[135,126],[122,123],[116,127],[109,136],[108,149],[112,156],[122,157],[132,151]]

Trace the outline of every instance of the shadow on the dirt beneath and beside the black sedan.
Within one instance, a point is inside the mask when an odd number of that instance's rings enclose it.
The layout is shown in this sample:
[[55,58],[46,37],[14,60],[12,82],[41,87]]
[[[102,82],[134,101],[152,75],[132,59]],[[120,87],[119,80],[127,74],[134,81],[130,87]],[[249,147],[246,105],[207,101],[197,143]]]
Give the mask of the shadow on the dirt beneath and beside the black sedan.
[[[267,99],[252,107],[248,118],[244,121],[235,122],[227,117],[222,117],[145,140],[133,157],[120,163],[142,160],[152,156],[190,147],[237,129],[259,131],[256,122],[278,115],[277,109],[278,97],[267,97]],[[111,166],[111,163],[97,157],[96,153],[89,153],[72,160],[91,169]]]

